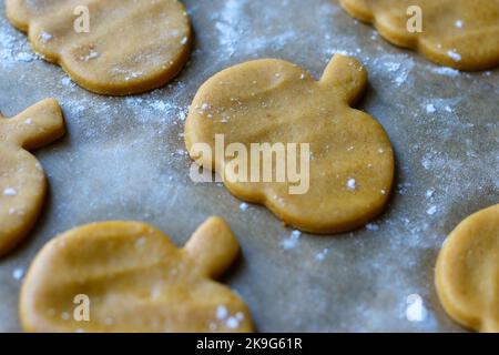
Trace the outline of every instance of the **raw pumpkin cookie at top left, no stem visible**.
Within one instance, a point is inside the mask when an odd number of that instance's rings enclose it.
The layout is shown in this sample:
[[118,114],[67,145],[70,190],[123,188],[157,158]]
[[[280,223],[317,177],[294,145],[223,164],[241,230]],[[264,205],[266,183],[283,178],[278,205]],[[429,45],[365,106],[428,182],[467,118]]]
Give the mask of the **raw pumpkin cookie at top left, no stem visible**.
[[[172,80],[191,52],[191,24],[179,0],[7,0],[7,17],[34,51],[78,84],[110,95],[153,90]],[[90,31],[79,33],[86,7]],[[77,13],[77,14],[75,14]]]

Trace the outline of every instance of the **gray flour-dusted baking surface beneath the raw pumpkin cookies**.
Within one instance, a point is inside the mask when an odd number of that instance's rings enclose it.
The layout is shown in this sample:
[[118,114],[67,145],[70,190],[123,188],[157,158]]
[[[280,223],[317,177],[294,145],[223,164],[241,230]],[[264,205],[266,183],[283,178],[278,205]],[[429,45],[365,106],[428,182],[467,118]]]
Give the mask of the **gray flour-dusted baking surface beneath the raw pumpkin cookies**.
[[[57,98],[69,132],[37,152],[50,195],[33,233],[0,260],[0,331],[20,331],[20,275],[58,233],[139,220],[182,245],[210,215],[225,217],[241,242],[243,256],[223,281],[248,304],[261,332],[464,331],[438,302],[434,266],[457,223],[499,201],[498,70],[431,64],[385,42],[332,0],[185,0],[196,33],[186,69],[154,92],[106,98],[34,55],[1,2],[0,109],[11,116]],[[319,78],[335,52],[355,55],[369,72],[358,108],[387,130],[398,186],[368,227],[285,243],[293,230],[266,209],[241,209],[222,185],[191,182],[185,113],[197,88],[226,67],[281,58]],[[421,322],[407,317],[413,294],[424,302]]]

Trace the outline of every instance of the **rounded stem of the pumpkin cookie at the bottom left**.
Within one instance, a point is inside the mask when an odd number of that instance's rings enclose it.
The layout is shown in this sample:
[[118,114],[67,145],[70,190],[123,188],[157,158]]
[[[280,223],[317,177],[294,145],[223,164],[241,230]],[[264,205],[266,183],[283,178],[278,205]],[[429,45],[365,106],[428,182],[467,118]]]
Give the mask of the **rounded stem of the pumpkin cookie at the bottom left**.
[[240,245],[224,220],[211,217],[194,232],[184,251],[207,276],[218,277],[237,257]]

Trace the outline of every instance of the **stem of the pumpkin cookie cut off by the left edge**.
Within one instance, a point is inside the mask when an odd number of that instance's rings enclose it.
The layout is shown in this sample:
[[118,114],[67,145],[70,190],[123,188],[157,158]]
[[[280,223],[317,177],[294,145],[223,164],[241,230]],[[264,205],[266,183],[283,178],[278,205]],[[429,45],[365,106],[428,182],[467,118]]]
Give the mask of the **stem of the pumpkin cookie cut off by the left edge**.
[[[43,100],[16,118],[8,120],[6,141],[17,143],[26,150],[34,150],[52,143],[64,135],[64,120],[54,99]],[[0,135],[3,135],[0,132]]]

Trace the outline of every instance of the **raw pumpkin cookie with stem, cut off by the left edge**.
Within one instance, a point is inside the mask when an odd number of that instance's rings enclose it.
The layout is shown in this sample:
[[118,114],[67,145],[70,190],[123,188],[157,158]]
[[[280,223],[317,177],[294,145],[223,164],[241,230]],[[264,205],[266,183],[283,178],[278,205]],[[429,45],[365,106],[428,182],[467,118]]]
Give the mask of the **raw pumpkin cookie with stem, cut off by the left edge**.
[[28,235],[43,204],[45,175],[27,150],[44,146],[64,131],[61,109],[53,99],[12,119],[0,114],[0,255]]

